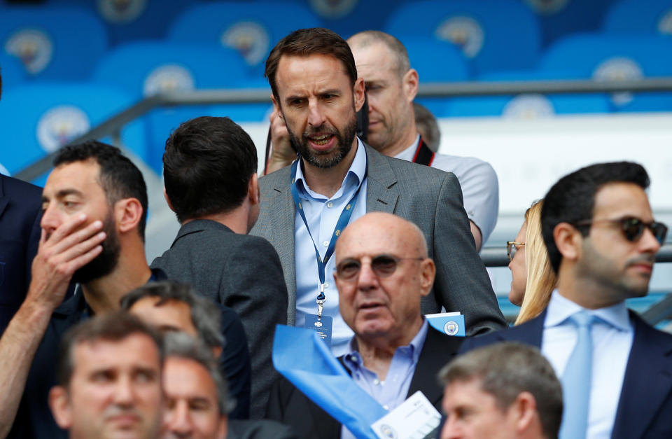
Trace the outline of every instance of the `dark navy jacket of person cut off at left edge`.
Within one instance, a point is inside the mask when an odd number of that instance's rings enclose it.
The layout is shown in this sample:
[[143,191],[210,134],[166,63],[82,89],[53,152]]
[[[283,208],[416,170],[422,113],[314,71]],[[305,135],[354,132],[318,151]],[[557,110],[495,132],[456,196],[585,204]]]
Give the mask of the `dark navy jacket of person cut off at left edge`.
[[0,334],[26,297],[40,242],[42,189],[0,174]]

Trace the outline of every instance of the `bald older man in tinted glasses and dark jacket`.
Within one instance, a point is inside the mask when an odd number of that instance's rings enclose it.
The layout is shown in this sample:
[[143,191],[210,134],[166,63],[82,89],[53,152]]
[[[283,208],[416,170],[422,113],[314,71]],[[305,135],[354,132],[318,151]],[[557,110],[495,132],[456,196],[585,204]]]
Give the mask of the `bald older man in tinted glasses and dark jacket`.
[[[421,314],[435,274],[427,255],[416,225],[381,212],[349,225],[336,244],[339,306],[355,333],[339,361],[387,410],[416,391],[439,408],[435,376],[462,341],[431,328]],[[353,438],[286,379],[274,387],[267,417],[293,426],[301,438]]]

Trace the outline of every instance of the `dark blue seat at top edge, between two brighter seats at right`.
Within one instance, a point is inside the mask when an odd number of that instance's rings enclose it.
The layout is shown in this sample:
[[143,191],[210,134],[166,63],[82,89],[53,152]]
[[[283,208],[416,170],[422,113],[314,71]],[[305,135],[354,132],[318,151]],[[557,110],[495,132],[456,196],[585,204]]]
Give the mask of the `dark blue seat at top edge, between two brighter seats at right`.
[[525,0],[540,24],[542,46],[577,32],[597,31],[615,0]]

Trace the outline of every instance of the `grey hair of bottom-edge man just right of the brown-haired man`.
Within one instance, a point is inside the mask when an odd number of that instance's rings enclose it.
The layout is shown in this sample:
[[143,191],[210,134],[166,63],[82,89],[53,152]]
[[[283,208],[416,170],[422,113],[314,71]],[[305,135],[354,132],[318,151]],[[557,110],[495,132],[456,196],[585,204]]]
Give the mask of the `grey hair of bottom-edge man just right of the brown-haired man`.
[[235,405],[228,399],[226,379],[217,368],[217,362],[212,352],[200,341],[185,333],[170,333],[165,336],[166,358],[176,357],[195,361],[202,365],[209,373],[217,390],[217,405],[220,414],[226,414]]

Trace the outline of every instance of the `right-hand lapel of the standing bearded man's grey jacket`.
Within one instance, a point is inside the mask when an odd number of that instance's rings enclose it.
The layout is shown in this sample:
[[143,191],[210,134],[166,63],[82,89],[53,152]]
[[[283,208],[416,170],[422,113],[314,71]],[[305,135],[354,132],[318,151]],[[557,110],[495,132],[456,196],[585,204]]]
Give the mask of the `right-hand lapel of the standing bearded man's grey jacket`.
[[366,211],[393,213],[399,193],[395,184],[397,178],[386,158],[378,151],[365,145],[367,160]]

